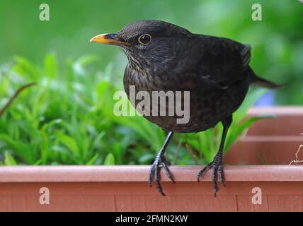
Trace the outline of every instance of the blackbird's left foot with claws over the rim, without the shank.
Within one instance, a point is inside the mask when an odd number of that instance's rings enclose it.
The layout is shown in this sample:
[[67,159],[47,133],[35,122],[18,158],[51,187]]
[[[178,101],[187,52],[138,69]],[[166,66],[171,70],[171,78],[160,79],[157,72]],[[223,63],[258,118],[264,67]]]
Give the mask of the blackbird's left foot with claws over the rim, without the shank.
[[168,169],[168,166],[171,165],[171,162],[168,162],[168,160],[166,160],[164,154],[162,154],[161,152],[156,155],[156,158],[154,160],[154,163],[151,165],[151,169],[149,170],[149,186],[151,186],[152,184],[152,179],[154,177],[154,181],[156,182],[156,189],[158,189],[158,191],[161,193],[162,196],[165,196],[162,186],[160,184],[160,169],[161,167],[164,168],[166,175],[169,179],[171,179],[171,181],[173,183],[175,183],[175,181],[173,180],[173,175],[171,174],[170,170]]

